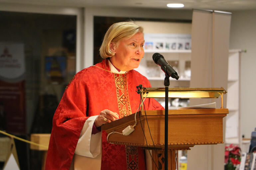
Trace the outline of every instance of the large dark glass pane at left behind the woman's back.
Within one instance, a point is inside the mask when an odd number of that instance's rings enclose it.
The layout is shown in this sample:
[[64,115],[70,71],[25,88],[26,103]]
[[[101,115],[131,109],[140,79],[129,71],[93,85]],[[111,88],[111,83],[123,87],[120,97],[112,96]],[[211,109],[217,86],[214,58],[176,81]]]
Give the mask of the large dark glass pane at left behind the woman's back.
[[[0,11],[0,22],[0,130],[26,140],[50,134],[76,73],[77,16]],[[9,141],[0,134],[2,147]],[[42,168],[42,151],[18,140],[15,145],[21,170]],[[0,150],[2,169],[9,150]]]

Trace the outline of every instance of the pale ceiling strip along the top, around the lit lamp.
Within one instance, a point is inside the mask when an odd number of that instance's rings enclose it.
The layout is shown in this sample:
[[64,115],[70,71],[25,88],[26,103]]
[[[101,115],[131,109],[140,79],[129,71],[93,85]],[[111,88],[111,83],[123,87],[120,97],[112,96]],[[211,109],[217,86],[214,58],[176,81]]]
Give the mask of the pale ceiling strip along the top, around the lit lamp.
[[183,3],[182,9],[250,10],[256,0],[0,0],[0,2],[63,7],[139,7],[168,9],[168,3]]

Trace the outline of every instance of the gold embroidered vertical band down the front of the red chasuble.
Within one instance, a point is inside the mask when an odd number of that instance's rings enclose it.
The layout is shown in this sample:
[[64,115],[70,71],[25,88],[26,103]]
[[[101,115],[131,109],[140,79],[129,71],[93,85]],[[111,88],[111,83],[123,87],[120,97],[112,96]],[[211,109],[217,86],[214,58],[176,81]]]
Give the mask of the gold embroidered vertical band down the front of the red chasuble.
[[[132,114],[128,96],[127,74],[114,73],[116,96],[120,118]],[[126,145],[125,150],[127,170],[139,170],[138,147]]]

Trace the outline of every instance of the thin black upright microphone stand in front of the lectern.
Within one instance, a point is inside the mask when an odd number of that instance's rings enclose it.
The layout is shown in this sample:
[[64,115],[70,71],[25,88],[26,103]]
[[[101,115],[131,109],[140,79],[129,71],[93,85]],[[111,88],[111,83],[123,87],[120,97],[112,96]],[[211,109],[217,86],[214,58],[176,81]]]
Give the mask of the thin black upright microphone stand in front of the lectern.
[[165,170],[168,170],[168,92],[170,85],[170,76],[165,74]]

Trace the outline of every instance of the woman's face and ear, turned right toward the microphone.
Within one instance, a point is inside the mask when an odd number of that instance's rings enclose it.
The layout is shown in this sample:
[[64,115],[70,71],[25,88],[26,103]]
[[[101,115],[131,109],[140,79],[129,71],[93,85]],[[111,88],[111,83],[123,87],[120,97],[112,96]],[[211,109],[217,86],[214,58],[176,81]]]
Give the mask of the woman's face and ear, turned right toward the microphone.
[[138,68],[144,56],[144,42],[142,32],[136,33],[129,39],[120,40],[116,46],[111,42],[110,48],[115,52],[115,55],[110,58],[113,65],[122,71]]

